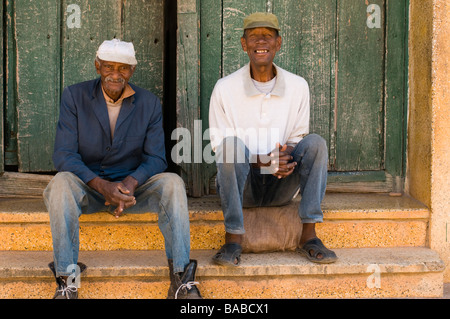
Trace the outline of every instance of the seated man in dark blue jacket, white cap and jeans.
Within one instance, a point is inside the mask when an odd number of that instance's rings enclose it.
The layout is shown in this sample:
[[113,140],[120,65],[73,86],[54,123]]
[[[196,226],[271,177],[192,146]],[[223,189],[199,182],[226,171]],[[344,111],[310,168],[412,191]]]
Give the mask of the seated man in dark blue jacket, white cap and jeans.
[[[189,213],[183,180],[167,168],[159,99],[128,83],[137,61],[132,43],[105,41],[99,78],[64,89],[53,161],[58,173],[44,191],[53,238],[54,298],[77,298],[68,281],[78,263],[80,215],[108,210],[158,212],[170,268],[168,298],[201,298],[189,258]],[[69,278],[70,279],[70,278]]]

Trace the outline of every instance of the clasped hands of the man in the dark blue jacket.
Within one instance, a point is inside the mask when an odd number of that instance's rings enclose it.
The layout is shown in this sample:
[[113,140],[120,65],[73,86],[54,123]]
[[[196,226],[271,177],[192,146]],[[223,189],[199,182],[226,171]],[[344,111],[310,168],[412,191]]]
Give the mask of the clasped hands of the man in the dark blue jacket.
[[136,204],[136,198],[133,195],[137,184],[137,180],[130,176],[119,183],[96,177],[88,183],[88,186],[105,197],[105,205],[117,206],[114,215],[119,218],[125,209]]

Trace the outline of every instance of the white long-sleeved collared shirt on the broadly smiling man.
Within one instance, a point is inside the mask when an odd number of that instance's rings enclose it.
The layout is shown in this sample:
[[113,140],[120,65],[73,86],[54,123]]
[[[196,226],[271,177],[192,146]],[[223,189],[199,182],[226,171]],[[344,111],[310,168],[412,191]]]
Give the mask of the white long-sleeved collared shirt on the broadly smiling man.
[[220,79],[212,92],[209,126],[213,151],[237,136],[251,154],[268,154],[276,143],[294,145],[309,133],[309,86],[305,79],[275,65],[272,92],[260,92],[250,64]]

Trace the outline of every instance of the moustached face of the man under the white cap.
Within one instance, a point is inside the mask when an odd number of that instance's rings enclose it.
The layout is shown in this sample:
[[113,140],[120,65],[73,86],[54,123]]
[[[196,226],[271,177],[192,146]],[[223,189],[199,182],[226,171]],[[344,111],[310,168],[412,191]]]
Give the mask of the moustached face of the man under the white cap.
[[95,61],[95,68],[101,76],[103,89],[113,99],[120,97],[134,73],[133,66],[118,62]]

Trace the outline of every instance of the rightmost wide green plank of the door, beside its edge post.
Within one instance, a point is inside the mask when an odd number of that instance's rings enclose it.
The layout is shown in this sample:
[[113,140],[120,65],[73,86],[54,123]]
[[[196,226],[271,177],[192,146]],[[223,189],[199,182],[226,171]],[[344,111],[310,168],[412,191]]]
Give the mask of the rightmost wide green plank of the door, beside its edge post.
[[[371,1],[382,9],[383,2]],[[338,1],[338,171],[383,168],[384,29],[370,29],[366,12],[365,1]]]

